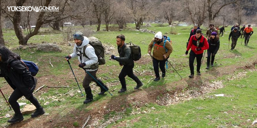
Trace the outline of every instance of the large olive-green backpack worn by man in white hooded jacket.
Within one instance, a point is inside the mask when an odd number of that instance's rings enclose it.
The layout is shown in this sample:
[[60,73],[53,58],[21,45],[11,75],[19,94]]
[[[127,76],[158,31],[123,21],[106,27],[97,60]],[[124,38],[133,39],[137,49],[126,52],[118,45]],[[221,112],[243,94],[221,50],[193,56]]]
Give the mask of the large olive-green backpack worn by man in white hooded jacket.
[[104,65],[105,64],[105,56],[104,56],[105,55],[105,49],[104,49],[101,41],[98,40],[97,38],[93,37],[93,36],[89,37],[88,40],[89,40],[89,44],[87,44],[86,46],[83,47],[83,56],[88,58],[86,56],[85,50],[86,50],[86,47],[91,45],[95,49],[95,55],[98,58],[99,65]]

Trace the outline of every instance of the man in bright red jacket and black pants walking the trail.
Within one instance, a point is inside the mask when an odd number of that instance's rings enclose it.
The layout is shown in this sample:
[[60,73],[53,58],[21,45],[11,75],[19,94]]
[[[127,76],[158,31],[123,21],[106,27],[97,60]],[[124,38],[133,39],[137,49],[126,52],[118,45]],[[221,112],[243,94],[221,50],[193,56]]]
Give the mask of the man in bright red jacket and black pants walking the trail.
[[[210,25],[211,26],[211,25]],[[217,32],[216,32],[217,33]],[[197,74],[201,75],[200,67],[201,67],[201,60],[203,57],[204,50],[209,49],[208,42],[206,38],[202,35],[202,30],[198,29],[196,34],[191,36],[187,50],[185,54],[188,54],[188,50],[191,48],[189,53],[189,67],[190,67],[190,75],[189,78],[194,77],[194,61],[196,58],[197,61]]]

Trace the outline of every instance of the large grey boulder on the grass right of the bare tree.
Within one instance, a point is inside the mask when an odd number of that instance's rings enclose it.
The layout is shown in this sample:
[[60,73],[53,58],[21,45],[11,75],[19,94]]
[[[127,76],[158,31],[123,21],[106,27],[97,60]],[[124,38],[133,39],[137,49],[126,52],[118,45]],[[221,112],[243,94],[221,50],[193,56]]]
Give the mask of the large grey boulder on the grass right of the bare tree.
[[62,49],[57,44],[39,44],[37,45],[37,50],[39,51],[62,51]]

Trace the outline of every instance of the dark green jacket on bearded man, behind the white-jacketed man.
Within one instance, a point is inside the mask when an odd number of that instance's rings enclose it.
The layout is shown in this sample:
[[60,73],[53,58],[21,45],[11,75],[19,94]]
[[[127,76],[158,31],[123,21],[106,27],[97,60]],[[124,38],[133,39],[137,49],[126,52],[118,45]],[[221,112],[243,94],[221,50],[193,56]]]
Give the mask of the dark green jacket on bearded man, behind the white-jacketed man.
[[119,57],[115,60],[122,65],[132,65],[134,63],[133,58],[131,57],[131,49],[126,43],[122,46],[118,46]]

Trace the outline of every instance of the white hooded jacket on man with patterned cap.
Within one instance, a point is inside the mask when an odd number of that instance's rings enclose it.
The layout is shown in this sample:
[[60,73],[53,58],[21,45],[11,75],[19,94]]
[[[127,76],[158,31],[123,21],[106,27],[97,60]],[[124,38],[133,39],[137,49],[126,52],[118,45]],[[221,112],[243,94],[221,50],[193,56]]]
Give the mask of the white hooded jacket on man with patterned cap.
[[[84,40],[82,41],[81,46],[77,46],[76,44],[74,45],[74,49],[73,49],[73,53],[70,54],[71,58],[75,58],[77,56],[77,53],[79,53],[79,51],[81,51],[81,61],[82,63],[85,63],[86,66],[84,66],[84,68],[90,68],[91,65],[93,64],[98,64],[98,58],[95,55],[95,49],[90,45],[88,47],[86,47],[86,56],[89,58],[86,58],[85,56],[83,56],[83,48],[84,46],[86,46],[89,43],[89,40],[87,37],[84,36]],[[78,48],[78,52],[77,52],[77,48]],[[80,62],[80,57],[78,56],[78,60],[79,63]],[[98,69],[98,68],[97,68]],[[97,69],[86,69],[87,71],[95,71]]]

